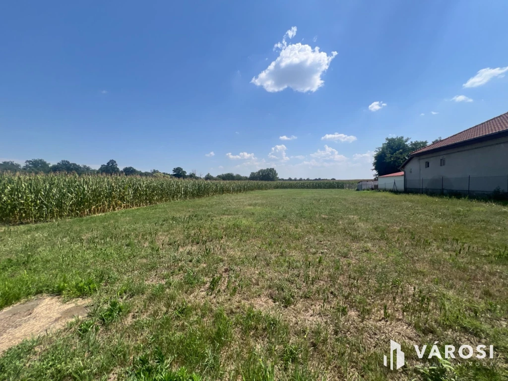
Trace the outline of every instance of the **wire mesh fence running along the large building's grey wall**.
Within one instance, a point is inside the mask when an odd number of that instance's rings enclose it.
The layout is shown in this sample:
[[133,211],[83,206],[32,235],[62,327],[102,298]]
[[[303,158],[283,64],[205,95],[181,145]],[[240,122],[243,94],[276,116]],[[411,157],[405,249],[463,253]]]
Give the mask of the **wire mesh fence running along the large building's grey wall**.
[[508,174],[505,176],[465,176],[430,179],[405,179],[408,193],[464,196],[508,196]]

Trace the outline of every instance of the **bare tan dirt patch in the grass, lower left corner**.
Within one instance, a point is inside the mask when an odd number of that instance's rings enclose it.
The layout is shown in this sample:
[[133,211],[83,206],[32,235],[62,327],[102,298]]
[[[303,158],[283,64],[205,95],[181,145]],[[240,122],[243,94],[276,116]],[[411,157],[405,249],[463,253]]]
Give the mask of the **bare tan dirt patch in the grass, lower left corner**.
[[63,327],[75,316],[86,316],[88,303],[75,299],[64,304],[60,298],[45,297],[0,311],[0,354],[24,339]]

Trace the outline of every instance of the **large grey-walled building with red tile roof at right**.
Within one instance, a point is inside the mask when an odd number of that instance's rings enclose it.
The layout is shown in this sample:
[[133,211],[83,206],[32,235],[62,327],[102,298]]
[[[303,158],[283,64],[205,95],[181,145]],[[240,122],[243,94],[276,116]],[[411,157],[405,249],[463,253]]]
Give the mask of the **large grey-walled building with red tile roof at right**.
[[508,113],[412,152],[401,169],[409,192],[508,192]]

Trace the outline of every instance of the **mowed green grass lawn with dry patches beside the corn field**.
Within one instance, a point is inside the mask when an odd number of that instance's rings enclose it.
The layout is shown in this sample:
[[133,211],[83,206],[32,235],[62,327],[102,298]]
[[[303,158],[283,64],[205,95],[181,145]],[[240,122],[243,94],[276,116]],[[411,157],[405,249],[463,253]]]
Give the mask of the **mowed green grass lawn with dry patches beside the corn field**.
[[[506,379],[508,206],[290,189],[0,227],[0,308],[37,294],[91,311],[0,379]],[[494,359],[416,357],[436,341]]]

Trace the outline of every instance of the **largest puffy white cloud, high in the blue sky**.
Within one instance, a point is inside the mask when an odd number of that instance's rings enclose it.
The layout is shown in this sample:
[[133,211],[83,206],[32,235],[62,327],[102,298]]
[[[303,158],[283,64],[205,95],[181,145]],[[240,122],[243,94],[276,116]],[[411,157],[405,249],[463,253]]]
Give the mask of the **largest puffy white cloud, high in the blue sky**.
[[250,83],[263,86],[269,92],[282,91],[287,87],[300,92],[313,92],[323,86],[321,75],[326,72],[337,52],[328,55],[320,52],[317,46],[312,49],[310,45],[301,43],[288,45],[286,36],[292,38],[295,35],[296,26],[286,32],[282,42],[275,44],[274,50],[280,49],[275,61],[253,77]]

